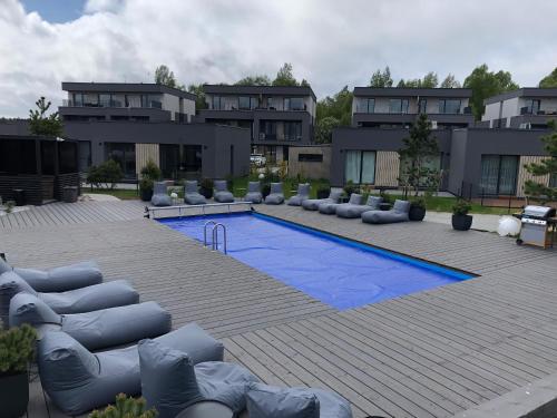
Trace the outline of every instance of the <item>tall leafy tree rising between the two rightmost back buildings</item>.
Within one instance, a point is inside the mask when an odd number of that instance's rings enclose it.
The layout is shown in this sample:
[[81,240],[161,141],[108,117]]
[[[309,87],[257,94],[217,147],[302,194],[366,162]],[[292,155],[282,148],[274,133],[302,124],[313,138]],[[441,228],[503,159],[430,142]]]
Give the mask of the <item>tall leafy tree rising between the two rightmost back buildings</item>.
[[512,81],[512,76],[508,71],[489,71],[486,64],[476,67],[465,79],[465,88],[472,89],[471,107],[476,120],[483,115],[483,100],[490,96],[496,96],[505,91],[516,90],[518,85]]

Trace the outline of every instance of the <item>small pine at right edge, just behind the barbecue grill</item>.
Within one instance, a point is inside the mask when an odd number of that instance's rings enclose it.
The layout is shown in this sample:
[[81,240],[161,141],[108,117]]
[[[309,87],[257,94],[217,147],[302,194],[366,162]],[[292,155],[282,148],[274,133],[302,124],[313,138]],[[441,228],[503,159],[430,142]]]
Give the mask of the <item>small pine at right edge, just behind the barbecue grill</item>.
[[540,163],[531,163],[525,165],[528,173],[535,176],[549,176],[549,185],[545,185],[531,179],[526,181],[525,192],[527,196],[538,198],[541,202],[557,201],[557,124],[550,121],[553,132],[543,136],[544,149],[548,157]]

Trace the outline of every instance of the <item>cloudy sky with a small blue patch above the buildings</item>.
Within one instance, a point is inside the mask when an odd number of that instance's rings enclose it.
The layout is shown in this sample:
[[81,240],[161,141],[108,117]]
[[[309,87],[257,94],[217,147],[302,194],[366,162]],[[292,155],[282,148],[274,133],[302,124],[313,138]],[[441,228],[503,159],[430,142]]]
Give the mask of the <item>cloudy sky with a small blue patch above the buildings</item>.
[[292,62],[317,97],[479,64],[536,86],[557,66],[555,0],[0,0],[0,117],[26,117],[60,82],[183,84],[274,76]]

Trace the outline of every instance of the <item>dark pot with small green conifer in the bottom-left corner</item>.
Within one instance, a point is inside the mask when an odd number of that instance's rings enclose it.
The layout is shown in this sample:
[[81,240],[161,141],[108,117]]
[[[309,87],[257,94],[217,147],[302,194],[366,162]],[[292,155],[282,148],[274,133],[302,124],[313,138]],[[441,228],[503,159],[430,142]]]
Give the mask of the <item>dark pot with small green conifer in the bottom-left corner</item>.
[[28,324],[0,331],[1,415],[18,418],[29,404],[28,364],[35,358],[37,332]]

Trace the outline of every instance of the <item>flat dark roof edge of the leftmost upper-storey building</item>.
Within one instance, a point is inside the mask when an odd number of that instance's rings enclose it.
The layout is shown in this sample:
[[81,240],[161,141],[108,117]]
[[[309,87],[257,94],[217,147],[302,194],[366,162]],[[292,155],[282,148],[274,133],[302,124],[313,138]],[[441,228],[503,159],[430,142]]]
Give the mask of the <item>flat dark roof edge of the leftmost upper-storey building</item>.
[[166,93],[185,99],[195,100],[197,96],[155,82],[70,82],[62,81],[65,91],[96,91],[96,93]]

